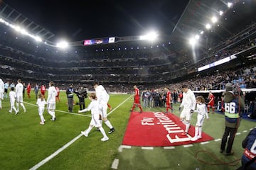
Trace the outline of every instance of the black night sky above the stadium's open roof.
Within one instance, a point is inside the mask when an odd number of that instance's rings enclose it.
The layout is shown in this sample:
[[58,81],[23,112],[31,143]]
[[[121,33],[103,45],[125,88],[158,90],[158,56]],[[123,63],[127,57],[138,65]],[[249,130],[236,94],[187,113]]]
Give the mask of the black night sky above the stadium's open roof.
[[[5,1],[22,16],[37,23],[32,30],[50,30],[54,37],[68,41],[87,40],[112,36],[142,35],[145,31],[156,30],[170,35],[188,4],[183,1]],[[1,3],[0,9],[3,9]],[[1,11],[0,11],[1,13]],[[7,18],[13,15],[6,13]],[[27,19],[28,20],[28,19]],[[14,21],[18,21],[14,17]],[[36,28],[37,27],[37,28]],[[37,32],[37,33],[38,33]]]

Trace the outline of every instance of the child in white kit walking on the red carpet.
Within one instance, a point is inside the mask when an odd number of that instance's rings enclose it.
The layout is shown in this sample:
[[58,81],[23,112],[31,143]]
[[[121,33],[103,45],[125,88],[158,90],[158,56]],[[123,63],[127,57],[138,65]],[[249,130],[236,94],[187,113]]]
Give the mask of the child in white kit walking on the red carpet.
[[195,136],[191,139],[192,141],[196,141],[202,138],[203,120],[205,120],[205,118],[207,120],[209,119],[207,106],[203,96],[197,96],[196,103],[197,105],[196,105],[195,112],[198,113],[198,116],[197,116],[196,127],[195,127]]

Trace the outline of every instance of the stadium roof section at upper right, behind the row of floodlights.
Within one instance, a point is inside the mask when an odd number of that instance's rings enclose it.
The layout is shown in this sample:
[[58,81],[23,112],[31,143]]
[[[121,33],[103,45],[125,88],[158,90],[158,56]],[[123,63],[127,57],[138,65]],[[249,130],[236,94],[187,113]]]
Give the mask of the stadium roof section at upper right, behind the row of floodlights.
[[[230,8],[229,2],[233,3]],[[255,8],[254,0],[191,0],[174,28],[174,33],[178,37],[188,38],[191,34],[200,34],[203,30],[207,34],[225,38],[232,35],[234,30],[256,21]],[[220,11],[223,11],[222,16]],[[214,25],[210,21],[213,16],[218,18]],[[210,30],[206,30],[207,23],[212,25]]]

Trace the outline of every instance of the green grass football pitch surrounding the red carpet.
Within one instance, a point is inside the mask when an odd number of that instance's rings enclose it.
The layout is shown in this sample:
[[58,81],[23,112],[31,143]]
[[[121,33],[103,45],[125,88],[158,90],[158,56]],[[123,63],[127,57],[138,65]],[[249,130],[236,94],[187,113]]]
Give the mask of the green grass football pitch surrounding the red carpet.
[[[122,146],[129,110],[133,103],[131,95],[111,94],[108,118],[115,128],[107,134],[110,140],[102,142],[102,134],[92,129],[88,137],[80,134],[90,123],[90,112],[78,114],[79,106],[74,106],[74,114],[68,113],[67,98],[60,93],[56,103],[57,120],[50,121],[45,110],[45,125],[40,125],[36,96],[25,96],[26,113],[20,106],[20,113],[9,113],[9,98],[2,101],[0,110],[0,169],[237,169],[242,156],[242,140],[255,122],[242,120],[235,137],[232,156],[220,154],[220,139],[224,132],[222,114],[210,114],[203,131],[215,140],[176,147],[129,147]],[[47,94],[46,94],[47,96]],[[75,96],[74,101],[78,102]],[[90,101],[86,99],[86,106]],[[178,113],[179,103],[174,105]],[[165,108],[144,108],[144,111],[165,111]],[[196,114],[191,124],[195,125]],[[106,132],[109,131],[103,125]]]

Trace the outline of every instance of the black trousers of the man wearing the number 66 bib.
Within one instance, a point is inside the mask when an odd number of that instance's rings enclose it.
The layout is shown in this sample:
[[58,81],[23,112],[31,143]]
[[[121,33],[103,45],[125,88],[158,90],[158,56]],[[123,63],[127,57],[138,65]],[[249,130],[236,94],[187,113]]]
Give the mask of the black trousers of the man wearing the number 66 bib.
[[[235,133],[237,131],[238,131],[238,128],[229,128],[227,126],[225,127],[225,132],[224,132],[223,138],[221,140],[221,146],[220,146],[221,150],[225,150],[225,145],[226,145],[227,140],[228,140],[228,146],[227,146],[227,149],[226,149],[226,153],[231,152],[233,142],[235,140]],[[228,138],[228,135],[230,136],[229,138]]]

